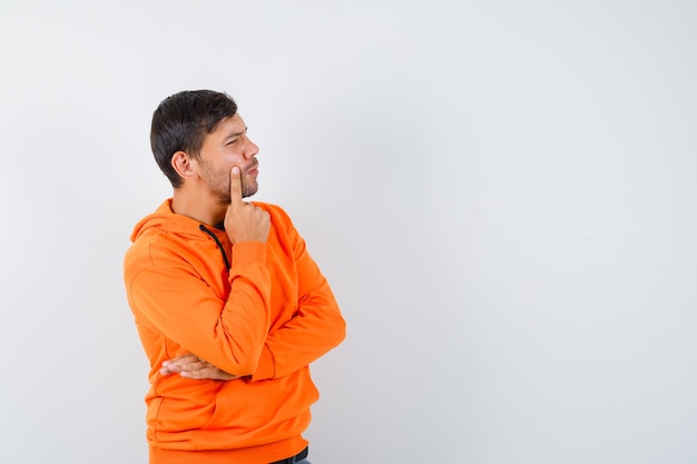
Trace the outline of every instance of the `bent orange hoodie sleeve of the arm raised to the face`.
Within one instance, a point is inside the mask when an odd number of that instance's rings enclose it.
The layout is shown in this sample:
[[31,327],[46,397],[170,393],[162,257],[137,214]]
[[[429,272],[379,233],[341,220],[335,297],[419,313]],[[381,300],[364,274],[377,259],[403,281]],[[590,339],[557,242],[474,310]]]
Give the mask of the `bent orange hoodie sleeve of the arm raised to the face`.
[[138,256],[126,273],[138,323],[230,374],[257,369],[271,317],[266,245],[235,245],[226,300],[166,245],[148,244]]

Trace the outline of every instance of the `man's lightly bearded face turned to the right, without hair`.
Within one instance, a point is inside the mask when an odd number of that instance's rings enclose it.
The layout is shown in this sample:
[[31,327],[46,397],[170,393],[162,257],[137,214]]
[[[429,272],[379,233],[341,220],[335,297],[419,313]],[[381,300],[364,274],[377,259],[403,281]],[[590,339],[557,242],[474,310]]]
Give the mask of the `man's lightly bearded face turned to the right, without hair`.
[[247,137],[245,121],[237,113],[223,119],[204,139],[198,160],[199,176],[222,205],[230,203],[229,176],[233,166],[242,172],[242,196],[256,194],[259,147]]

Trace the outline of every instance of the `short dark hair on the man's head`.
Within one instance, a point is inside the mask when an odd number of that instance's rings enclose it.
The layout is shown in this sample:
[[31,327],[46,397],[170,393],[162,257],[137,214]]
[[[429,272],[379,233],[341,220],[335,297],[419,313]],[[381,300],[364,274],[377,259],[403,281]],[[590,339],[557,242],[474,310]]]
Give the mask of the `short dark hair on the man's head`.
[[237,113],[237,103],[227,93],[213,90],[187,90],[164,99],[153,113],[150,147],[157,165],[173,187],[181,178],[171,167],[177,151],[197,158],[205,137],[218,124]]

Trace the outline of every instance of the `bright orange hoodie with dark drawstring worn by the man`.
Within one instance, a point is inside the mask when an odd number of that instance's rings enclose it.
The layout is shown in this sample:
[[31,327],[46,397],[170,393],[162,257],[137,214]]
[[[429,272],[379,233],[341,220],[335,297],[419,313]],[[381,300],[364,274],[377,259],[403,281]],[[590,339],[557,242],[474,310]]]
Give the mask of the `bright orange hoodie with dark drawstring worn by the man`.
[[[318,397],[308,365],[343,340],[345,323],[289,217],[255,205],[271,215],[266,244],[233,247],[225,231],[174,214],[171,199],[134,229],[124,275],[150,362],[151,464],[269,463],[307,445]],[[240,378],[160,375],[185,353]]]

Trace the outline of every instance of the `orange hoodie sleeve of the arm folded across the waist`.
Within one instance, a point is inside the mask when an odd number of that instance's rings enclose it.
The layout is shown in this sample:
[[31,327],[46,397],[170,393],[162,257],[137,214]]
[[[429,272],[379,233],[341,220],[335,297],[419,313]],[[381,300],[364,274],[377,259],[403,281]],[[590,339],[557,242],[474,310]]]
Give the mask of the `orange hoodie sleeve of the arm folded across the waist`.
[[346,324],[332,289],[305,247],[305,241],[281,210],[297,269],[298,300],[293,317],[266,338],[252,381],[287,376],[337,346]]

